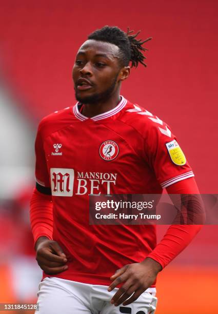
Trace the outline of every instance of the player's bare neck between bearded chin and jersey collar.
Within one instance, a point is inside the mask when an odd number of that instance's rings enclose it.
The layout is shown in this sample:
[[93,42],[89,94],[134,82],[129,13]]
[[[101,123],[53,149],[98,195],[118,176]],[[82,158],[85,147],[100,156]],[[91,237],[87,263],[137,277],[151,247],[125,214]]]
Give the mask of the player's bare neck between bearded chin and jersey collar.
[[98,114],[105,113],[113,108],[115,108],[118,103],[120,103],[120,91],[112,94],[108,100],[103,102],[97,102],[96,104],[84,104],[82,114],[87,117],[93,117]]

